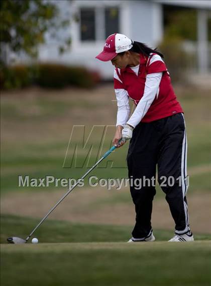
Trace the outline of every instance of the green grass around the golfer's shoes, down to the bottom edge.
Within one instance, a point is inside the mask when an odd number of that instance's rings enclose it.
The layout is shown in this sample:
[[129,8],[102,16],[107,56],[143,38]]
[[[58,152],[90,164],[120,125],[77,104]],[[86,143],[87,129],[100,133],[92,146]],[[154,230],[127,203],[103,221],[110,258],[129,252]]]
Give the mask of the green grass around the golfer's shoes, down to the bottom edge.
[[[1,241],[26,237],[37,222],[2,216]],[[127,244],[130,231],[46,221],[35,234],[41,243],[1,244],[1,285],[209,285],[210,235],[195,235],[194,243],[168,243],[172,232],[154,230],[158,242]]]

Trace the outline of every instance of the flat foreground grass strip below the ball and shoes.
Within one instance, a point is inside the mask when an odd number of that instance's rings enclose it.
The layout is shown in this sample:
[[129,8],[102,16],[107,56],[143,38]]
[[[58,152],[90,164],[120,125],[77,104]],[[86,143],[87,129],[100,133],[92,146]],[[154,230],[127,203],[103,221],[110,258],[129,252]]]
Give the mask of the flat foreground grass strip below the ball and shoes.
[[210,241],[2,245],[2,285],[210,283]]

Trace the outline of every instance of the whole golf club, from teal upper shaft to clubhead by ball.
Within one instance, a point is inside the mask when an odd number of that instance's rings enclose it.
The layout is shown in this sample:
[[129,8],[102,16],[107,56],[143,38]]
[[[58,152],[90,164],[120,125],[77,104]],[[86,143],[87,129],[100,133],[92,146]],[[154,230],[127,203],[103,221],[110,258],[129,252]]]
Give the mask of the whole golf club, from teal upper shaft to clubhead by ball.
[[91,167],[78,181],[77,183],[70,188],[66,194],[64,194],[61,199],[48,211],[47,215],[39,222],[39,224],[33,229],[33,231],[30,233],[30,235],[26,238],[19,238],[19,237],[9,237],[7,241],[9,243],[14,243],[14,244],[22,244],[22,243],[27,243],[30,237],[33,235],[33,233],[39,228],[39,226],[48,218],[50,213],[57,207],[57,205],[60,204],[60,202],[80,183],[80,180],[84,179],[103,159],[105,159],[107,156],[109,156],[119,145],[119,143],[122,141],[122,138],[119,140],[118,144],[116,146],[113,146],[109,151],[105,152],[105,154],[97,161],[93,167]]

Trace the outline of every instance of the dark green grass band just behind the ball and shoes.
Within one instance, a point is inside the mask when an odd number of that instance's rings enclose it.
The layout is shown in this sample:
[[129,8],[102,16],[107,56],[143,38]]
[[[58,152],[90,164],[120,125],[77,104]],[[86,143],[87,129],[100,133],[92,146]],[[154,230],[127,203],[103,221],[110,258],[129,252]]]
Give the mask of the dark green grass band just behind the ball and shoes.
[[[1,216],[1,243],[7,243],[10,236],[25,238],[39,223],[40,219]],[[56,242],[124,242],[130,238],[132,226],[72,224],[69,222],[47,220],[38,228],[34,237],[41,243]],[[154,230],[158,241],[167,241],[173,231]],[[211,240],[209,234],[194,234],[196,240]]]

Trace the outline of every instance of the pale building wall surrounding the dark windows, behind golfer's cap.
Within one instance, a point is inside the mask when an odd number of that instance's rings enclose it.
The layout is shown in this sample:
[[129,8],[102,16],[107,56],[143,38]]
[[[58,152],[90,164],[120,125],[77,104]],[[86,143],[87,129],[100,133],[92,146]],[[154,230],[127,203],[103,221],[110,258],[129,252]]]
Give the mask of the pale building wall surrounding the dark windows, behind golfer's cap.
[[[71,14],[78,13],[80,7],[95,7],[96,34],[99,40],[90,42],[80,41],[80,25],[71,22],[69,32],[72,38],[70,51],[63,55],[58,54],[58,45],[48,41],[40,47],[41,61],[59,61],[62,63],[85,65],[90,69],[99,70],[104,79],[112,79],[114,67],[111,62],[101,62],[95,56],[102,50],[104,40],[100,40],[103,34],[100,17],[102,19],[103,8],[116,6],[120,9],[120,33],[126,34],[133,40],[145,42],[152,47],[162,38],[162,8],[160,4],[148,1],[65,1],[60,6],[61,10],[68,10]],[[149,21],[150,19],[150,21]],[[149,24],[150,22],[150,24]],[[147,24],[146,24],[147,23]]]

